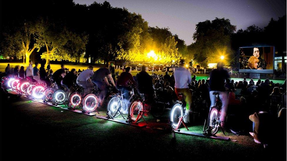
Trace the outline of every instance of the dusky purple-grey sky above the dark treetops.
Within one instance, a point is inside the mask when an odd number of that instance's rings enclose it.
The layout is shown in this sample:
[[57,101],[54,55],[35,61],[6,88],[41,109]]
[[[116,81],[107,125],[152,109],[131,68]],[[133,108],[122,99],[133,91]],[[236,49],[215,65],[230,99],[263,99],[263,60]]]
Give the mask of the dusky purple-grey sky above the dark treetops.
[[[95,0],[74,0],[77,4],[90,5]],[[96,0],[103,3],[104,0]],[[198,22],[215,17],[228,18],[236,30],[255,24],[263,28],[273,17],[286,14],[286,0],[108,0],[111,6],[140,13],[148,26],[169,27],[173,34],[193,43],[192,35]]]

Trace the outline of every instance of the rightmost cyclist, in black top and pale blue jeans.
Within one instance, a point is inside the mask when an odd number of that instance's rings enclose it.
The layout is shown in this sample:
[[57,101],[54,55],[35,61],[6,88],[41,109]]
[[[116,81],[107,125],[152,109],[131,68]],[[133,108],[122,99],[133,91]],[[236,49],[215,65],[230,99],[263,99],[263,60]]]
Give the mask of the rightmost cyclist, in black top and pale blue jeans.
[[217,69],[214,69],[210,73],[210,79],[209,79],[209,96],[211,105],[210,108],[215,105],[216,102],[216,96],[213,95],[213,92],[219,93],[219,98],[222,102],[221,106],[221,112],[220,112],[220,121],[221,126],[224,128],[224,121],[226,121],[226,112],[227,112],[227,106],[228,106],[228,92],[226,91],[224,85],[225,80],[229,78],[229,74],[226,70],[223,69],[223,63],[218,62],[217,63]]

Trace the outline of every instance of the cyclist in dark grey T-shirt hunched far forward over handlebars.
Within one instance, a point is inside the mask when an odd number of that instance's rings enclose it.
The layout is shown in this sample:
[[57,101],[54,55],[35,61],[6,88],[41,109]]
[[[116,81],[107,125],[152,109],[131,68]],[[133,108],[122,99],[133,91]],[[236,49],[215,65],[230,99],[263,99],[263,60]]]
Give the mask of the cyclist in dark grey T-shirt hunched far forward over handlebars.
[[103,100],[105,99],[105,96],[107,93],[106,85],[112,86],[111,84],[109,84],[108,78],[111,81],[112,85],[116,87],[114,79],[112,78],[111,72],[108,68],[98,69],[92,77],[92,82],[96,84],[100,90],[100,93],[99,93],[100,94],[100,105],[104,103]]

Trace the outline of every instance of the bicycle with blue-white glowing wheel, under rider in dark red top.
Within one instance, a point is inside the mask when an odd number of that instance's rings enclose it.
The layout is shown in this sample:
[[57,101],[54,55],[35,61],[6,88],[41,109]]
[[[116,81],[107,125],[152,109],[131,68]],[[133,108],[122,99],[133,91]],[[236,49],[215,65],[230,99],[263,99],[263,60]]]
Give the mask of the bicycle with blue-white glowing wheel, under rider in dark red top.
[[[129,97],[129,99],[126,101],[126,103],[124,103],[124,97],[121,91],[121,89],[117,89],[118,93],[114,94],[111,99],[108,102],[107,105],[107,118],[116,118],[119,115],[121,115],[123,118],[123,114],[122,114],[122,108],[123,107],[127,107],[127,104],[132,100],[132,98],[134,97],[134,87],[131,87],[131,90],[129,90],[127,93],[130,93],[131,96]],[[124,118],[125,119],[125,118]]]

